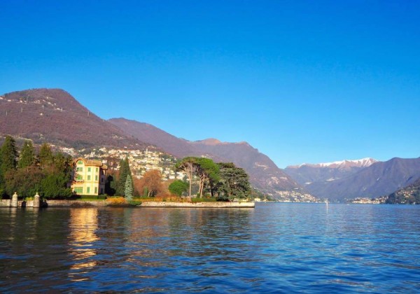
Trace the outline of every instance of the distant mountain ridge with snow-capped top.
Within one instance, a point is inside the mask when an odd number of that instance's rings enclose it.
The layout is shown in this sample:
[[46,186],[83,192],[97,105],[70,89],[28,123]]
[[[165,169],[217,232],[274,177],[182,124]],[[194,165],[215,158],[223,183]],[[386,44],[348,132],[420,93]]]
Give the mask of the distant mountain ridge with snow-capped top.
[[377,162],[373,158],[360,160],[342,160],[336,162],[294,165],[286,167],[286,174],[291,176],[300,185],[306,186],[311,183],[335,181],[356,174],[365,167]]

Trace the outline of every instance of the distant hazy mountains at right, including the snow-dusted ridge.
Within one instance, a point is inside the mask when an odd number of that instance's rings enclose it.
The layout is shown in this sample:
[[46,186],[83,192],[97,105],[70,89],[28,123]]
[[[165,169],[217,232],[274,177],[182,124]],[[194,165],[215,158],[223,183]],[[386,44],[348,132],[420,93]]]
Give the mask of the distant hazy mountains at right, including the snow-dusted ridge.
[[288,167],[286,172],[312,195],[343,201],[355,197],[380,197],[408,186],[420,178],[420,158],[371,158],[320,165]]

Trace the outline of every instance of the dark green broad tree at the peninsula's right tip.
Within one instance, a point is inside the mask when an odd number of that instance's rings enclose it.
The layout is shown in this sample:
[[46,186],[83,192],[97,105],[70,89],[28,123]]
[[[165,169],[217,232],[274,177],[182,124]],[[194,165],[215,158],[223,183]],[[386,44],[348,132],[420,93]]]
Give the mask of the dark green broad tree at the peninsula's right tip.
[[219,199],[244,199],[251,193],[251,184],[244,169],[235,167],[233,163],[219,163],[221,181],[219,184]]

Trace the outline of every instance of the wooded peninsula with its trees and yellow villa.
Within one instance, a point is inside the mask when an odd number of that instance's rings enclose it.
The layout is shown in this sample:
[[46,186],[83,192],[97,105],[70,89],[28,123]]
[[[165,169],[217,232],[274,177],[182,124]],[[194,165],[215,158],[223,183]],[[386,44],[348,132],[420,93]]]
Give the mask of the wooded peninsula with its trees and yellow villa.
[[255,197],[248,174],[232,163],[209,158],[183,158],[173,166],[183,179],[164,181],[158,169],[134,177],[128,158],[116,169],[101,160],[72,158],[53,152],[49,144],[36,148],[23,141],[18,148],[6,136],[0,148],[0,195],[3,199],[19,195],[31,200],[109,200],[116,203],[141,202],[232,202]]

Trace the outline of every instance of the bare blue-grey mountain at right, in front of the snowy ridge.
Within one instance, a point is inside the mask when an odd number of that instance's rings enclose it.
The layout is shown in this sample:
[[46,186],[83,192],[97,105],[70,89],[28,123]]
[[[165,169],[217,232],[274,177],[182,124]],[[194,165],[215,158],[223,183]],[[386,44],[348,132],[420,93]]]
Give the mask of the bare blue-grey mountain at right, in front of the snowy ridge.
[[305,186],[309,193],[330,200],[379,197],[393,193],[420,178],[420,158],[393,158],[374,164],[335,181],[318,181]]

